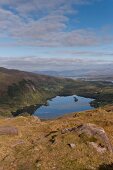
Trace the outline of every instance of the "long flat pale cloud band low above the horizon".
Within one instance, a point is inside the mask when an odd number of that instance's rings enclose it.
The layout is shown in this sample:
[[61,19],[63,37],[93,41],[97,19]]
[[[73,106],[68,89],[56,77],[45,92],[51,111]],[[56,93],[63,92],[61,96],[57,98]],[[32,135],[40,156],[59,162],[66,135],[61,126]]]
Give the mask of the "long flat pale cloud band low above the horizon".
[[71,71],[96,68],[113,68],[113,60],[77,59],[77,58],[40,58],[40,57],[1,57],[0,67],[25,71]]

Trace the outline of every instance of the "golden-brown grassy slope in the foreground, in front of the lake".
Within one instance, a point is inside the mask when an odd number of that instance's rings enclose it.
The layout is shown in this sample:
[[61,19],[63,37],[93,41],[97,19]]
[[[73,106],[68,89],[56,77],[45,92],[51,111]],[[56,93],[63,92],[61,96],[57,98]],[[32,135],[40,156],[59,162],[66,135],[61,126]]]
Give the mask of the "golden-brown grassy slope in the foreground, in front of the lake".
[[[99,154],[76,133],[61,134],[64,128],[82,123],[103,127],[113,145],[113,107],[73,113],[60,119],[40,122],[36,118],[0,119],[1,126],[15,126],[18,136],[0,136],[0,168],[3,170],[102,170],[112,164],[113,155]],[[55,137],[55,142],[51,140]],[[74,143],[71,149],[68,144]],[[105,167],[104,167],[105,168]],[[105,170],[103,168],[103,170]],[[106,170],[109,170],[106,168]]]

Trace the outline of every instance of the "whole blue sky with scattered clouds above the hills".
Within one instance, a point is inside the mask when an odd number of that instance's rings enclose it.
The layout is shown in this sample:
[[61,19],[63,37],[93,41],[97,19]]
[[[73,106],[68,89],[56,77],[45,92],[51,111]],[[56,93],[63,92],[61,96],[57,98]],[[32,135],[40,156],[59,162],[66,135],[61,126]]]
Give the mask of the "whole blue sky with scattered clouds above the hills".
[[113,0],[0,0],[0,60],[113,62]]

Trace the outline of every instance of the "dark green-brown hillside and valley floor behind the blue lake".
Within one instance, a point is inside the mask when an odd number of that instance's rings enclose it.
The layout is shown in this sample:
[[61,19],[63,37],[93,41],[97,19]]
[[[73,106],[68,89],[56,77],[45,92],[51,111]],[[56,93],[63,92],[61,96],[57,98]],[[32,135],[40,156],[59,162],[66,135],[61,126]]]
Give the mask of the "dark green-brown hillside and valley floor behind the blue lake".
[[112,104],[113,83],[84,81],[0,69],[0,115],[33,114],[55,96],[78,95],[94,99],[93,107]]

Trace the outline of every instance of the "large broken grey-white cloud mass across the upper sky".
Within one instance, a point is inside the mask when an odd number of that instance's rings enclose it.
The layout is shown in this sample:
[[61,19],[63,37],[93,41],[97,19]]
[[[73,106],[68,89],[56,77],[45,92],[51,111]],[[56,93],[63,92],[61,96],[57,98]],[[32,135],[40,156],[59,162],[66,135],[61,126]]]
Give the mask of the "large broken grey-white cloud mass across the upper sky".
[[[90,2],[93,0],[0,0],[0,37],[13,39],[0,45],[72,47],[112,42],[113,37],[102,35],[101,30],[98,34],[91,29],[67,31],[67,14],[77,13],[73,4]],[[9,9],[3,8],[5,4]]]

